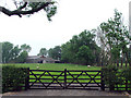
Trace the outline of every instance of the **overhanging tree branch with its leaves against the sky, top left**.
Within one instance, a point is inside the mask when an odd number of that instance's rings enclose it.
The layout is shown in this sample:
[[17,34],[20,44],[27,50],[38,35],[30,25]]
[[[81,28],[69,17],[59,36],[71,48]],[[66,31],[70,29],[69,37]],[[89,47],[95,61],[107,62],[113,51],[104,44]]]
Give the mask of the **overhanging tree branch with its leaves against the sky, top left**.
[[22,15],[31,15],[39,11],[45,11],[47,13],[47,17],[49,21],[52,15],[56,14],[57,7],[55,5],[55,1],[44,0],[43,2],[32,2],[27,0],[13,0],[15,10],[11,11],[10,9],[5,7],[0,7],[0,12],[4,13],[5,15],[12,16],[12,15],[19,15],[22,17]]

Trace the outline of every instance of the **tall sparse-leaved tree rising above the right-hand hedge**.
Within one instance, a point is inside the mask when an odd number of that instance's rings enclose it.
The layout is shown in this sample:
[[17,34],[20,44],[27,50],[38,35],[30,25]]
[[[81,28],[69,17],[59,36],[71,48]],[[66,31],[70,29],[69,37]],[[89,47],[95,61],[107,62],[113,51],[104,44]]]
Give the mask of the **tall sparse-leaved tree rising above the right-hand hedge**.
[[107,23],[104,22],[100,24],[99,37],[103,50],[107,53],[107,64],[111,64],[120,56],[124,54],[131,65],[131,60],[128,56],[128,45],[130,45],[131,37],[129,36],[127,26],[123,25],[121,16],[122,13],[115,10],[115,17],[109,19]]

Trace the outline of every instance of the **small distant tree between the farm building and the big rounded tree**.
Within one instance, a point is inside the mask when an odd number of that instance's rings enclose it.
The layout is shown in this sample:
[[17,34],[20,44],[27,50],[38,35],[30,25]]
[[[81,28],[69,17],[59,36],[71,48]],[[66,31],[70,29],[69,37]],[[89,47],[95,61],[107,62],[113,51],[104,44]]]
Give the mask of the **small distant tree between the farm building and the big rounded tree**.
[[61,60],[61,47],[56,46],[55,48],[50,48],[48,50],[48,56],[52,59]]

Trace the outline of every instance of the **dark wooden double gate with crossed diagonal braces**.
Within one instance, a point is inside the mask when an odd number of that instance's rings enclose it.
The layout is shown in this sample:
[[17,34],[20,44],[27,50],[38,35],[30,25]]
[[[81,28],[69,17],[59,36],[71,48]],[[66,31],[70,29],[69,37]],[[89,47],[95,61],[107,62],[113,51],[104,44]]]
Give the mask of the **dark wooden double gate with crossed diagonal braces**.
[[47,71],[29,70],[27,87],[29,89],[102,89],[104,81],[102,71]]

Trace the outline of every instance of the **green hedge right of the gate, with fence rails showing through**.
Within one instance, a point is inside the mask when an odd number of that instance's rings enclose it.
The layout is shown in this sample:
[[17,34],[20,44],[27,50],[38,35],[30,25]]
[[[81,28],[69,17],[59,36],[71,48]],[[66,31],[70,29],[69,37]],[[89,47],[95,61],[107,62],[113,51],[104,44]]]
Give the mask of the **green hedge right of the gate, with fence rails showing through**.
[[108,65],[102,69],[104,82],[110,90],[131,90],[131,68]]

